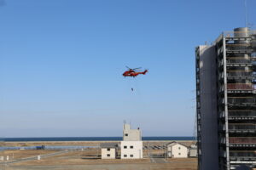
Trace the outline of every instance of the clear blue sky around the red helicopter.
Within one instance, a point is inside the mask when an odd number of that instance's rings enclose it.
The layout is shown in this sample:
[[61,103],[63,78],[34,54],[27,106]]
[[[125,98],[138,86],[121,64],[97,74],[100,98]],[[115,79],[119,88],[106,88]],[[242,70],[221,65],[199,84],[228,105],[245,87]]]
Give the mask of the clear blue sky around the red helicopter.
[[[245,26],[243,0],[5,3],[2,137],[121,136],[124,120],[143,136],[191,136],[195,46]],[[251,24],[255,6],[247,0]],[[149,72],[124,78],[125,65]]]

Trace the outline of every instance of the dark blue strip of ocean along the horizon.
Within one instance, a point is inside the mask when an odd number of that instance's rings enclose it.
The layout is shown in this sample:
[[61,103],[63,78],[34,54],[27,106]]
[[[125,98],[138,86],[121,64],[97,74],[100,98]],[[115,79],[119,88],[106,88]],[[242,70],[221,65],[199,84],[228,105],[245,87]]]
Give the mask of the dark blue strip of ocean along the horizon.
[[[44,137],[44,138],[4,138],[6,142],[32,141],[120,141],[122,137]],[[195,137],[143,137],[143,140],[195,140]]]

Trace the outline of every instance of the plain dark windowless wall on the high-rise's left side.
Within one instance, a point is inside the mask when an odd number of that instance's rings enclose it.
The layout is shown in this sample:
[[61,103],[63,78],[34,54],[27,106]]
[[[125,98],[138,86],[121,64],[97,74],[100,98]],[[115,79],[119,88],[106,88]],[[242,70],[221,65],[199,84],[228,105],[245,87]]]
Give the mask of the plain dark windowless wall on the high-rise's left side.
[[199,167],[200,170],[218,170],[217,54],[213,45],[199,46],[199,49],[201,90]]

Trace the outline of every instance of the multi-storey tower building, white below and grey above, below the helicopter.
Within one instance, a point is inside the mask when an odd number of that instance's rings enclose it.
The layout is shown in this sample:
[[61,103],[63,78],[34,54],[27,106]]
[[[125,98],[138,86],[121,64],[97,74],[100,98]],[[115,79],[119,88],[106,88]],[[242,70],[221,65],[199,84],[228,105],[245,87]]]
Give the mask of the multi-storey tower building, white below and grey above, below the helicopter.
[[121,141],[121,159],[143,158],[142,132],[139,128],[131,129],[130,124],[124,124],[123,141]]

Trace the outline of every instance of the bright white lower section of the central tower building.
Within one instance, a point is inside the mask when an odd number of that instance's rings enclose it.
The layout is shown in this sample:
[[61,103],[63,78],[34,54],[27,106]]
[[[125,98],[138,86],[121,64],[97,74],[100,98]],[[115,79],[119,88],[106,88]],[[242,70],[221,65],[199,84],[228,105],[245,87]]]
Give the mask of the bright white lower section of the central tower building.
[[143,141],[121,141],[121,159],[140,158],[143,158]]

